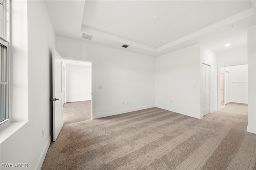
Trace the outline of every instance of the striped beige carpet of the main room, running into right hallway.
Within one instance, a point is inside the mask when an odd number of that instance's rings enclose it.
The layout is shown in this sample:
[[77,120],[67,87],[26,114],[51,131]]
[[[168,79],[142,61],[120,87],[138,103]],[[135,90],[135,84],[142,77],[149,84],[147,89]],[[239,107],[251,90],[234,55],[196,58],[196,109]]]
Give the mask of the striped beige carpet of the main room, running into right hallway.
[[203,119],[150,108],[64,125],[42,170],[256,169],[247,106],[228,104]]

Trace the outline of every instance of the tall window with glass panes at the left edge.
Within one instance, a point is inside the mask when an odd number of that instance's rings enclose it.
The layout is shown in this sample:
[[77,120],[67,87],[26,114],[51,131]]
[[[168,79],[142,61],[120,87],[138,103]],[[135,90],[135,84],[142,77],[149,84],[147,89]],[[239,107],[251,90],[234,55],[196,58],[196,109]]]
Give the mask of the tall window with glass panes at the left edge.
[[0,122],[8,120],[9,102],[9,1],[0,0]]

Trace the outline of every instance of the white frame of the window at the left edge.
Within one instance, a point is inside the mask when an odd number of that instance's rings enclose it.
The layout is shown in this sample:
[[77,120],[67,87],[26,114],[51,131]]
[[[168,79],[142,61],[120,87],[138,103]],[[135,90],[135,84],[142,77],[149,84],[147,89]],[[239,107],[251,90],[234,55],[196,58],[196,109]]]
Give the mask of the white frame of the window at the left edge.
[[[0,4],[2,6],[1,9],[1,36],[0,36],[0,44],[6,47],[6,81],[1,81],[0,84],[6,84],[6,119],[0,122],[1,128],[8,125],[10,121],[9,115],[9,33],[10,33],[10,1],[9,0],[0,0]],[[2,55],[2,54],[1,54]]]

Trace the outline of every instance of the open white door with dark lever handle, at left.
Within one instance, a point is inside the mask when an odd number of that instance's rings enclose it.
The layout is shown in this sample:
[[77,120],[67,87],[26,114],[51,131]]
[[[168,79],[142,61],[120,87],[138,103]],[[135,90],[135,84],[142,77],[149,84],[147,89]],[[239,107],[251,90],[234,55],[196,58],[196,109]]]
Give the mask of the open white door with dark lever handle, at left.
[[56,141],[63,127],[62,57],[54,50],[52,54],[52,105],[53,141]]

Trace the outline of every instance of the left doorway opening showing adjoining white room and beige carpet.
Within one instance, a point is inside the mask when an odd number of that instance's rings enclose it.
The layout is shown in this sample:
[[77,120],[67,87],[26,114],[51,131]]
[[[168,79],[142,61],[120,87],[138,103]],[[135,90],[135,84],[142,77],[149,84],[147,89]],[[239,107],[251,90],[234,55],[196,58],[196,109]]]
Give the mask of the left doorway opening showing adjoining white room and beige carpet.
[[64,125],[92,119],[92,63],[63,61]]

